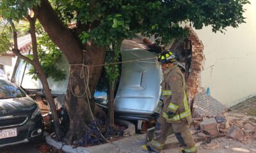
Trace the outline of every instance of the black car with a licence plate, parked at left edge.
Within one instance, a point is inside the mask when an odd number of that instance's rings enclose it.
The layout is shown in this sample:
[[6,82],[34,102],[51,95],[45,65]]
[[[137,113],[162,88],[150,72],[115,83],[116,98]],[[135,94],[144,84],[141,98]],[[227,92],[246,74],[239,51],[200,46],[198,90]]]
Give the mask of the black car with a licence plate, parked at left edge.
[[0,78],[0,147],[42,140],[44,124],[35,101],[9,80]]

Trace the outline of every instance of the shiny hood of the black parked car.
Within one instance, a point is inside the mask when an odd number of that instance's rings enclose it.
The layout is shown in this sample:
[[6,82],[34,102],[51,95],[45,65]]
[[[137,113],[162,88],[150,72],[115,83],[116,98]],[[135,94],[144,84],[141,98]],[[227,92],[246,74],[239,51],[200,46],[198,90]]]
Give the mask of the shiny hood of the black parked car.
[[36,103],[29,97],[0,99],[0,116],[28,114],[36,109]]

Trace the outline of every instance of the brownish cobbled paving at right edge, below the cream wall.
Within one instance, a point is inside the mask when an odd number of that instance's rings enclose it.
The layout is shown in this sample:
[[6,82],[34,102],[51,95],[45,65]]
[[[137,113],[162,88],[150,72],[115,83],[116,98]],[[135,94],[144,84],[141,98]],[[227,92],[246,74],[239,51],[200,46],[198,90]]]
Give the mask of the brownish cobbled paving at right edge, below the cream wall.
[[256,116],[256,96],[233,106],[230,110],[233,112],[247,113],[248,115]]

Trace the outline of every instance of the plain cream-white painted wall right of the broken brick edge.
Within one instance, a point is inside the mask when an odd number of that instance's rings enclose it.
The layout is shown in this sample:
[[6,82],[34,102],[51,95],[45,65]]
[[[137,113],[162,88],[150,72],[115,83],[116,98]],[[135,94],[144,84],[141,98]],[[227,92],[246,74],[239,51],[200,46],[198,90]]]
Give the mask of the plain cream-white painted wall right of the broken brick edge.
[[204,44],[202,87],[225,106],[234,106],[256,95],[256,1],[246,5],[246,24],[227,28],[225,34],[211,27],[196,31]]

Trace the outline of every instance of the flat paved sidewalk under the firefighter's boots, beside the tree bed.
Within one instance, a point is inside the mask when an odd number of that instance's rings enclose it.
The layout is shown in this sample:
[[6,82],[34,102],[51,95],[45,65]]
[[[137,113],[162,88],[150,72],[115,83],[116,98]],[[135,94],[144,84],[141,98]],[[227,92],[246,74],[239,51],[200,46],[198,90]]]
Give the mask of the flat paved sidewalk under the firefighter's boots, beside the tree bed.
[[[118,140],[113,143],[105,143],[103,145],[97,145],[94,147],[77,147],[70,148],[69,151],[65,150],[67,147],[63,146],[65,152],[77,152],[77,153],[145,153],[141,149],[141,145],[144,144],[145,134],[129,136],[122,140]],[[205,149],[205,145],[202,142],[196,143],[198,145],[198,153],[241,153],[241,152],[252,152],[256,153],[256,138],[255,140],[249,140],[246,143],[237,142],[230,138],[218,138],[214,141],[218,142],[217,146],[212,149]],[[116,149],[118,147],[118,149]],[[178,153],[179,148],[175,149],[164,149],[161,153]]]

